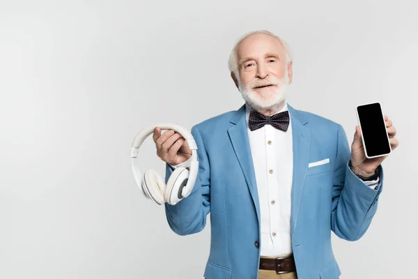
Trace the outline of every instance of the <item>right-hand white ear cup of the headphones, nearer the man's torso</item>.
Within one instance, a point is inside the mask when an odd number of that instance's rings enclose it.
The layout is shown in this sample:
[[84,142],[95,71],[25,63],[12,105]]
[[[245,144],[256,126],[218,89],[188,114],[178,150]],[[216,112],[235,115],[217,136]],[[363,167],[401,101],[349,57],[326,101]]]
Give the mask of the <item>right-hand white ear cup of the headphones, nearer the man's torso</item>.
[[189,178],[189,170],[185,167],[178,167],[173,170],[173,173],[167,181],[166,190],[164,191],[164,199],[168,204],[177,204],[183,199],[181,191],[187,183]]

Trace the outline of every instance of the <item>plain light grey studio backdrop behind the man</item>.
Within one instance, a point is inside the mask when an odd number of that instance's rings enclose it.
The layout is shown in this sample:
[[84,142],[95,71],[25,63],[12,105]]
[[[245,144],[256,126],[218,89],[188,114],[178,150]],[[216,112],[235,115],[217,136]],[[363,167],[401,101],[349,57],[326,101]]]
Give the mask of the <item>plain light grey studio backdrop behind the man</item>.
[[[288,101],[341,123],[379,101],[398,149],[366,235],[333,235],[341,278],[410,278],[417,249],[418,18],[413,1],[0,1],[0,278],[203,278],[210,222],[171,232],[130,169],[139,131],[243,104],[243,33],[294,53]],[[137,163],[164,174],[153,140]]]

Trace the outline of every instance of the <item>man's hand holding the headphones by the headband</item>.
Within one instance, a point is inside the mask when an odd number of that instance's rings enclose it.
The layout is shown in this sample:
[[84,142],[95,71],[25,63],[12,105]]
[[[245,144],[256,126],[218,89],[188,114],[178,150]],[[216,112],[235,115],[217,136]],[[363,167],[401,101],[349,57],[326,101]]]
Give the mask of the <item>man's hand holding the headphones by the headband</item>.
[[161,128],[155,127],[153,140],[157,147],[157,156],[170,165],[178,165],[192,156],[192,150],[184,137],[174,130],[167,130],[161,135]]

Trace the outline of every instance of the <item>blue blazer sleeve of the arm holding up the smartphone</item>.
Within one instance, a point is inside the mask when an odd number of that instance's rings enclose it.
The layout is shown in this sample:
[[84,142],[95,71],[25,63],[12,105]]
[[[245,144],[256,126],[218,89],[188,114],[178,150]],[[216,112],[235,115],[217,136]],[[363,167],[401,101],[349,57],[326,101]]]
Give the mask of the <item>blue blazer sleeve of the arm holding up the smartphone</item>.
[[378,190],[370,188],[348,166],[351,151],[343,127],[338,124],[332,188],[331,229],[341,239],[357,241],[369,228],[383,190],[380,167]]

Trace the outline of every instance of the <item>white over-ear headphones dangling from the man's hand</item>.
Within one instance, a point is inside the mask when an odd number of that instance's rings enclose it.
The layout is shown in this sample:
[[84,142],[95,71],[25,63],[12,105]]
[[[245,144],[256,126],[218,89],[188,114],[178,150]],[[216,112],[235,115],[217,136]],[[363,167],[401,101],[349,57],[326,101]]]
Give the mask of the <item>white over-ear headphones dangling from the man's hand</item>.
[[[139,147],[146,137],[154,133],[155,127],[159,127],[161,130],[171,129],[179,133],[185,138],[187,144],[189,144],[189,148],[192,150],[192,160],[189,160],[185,167],[177,167],[174,169],[167,181],[167,185],[164,183],[164,179],[154,169],[148,169],[144,173],[144,176],[142,176],[141,170],[134,165],[134,158],[137,158]],[[141,130],[134,138],[130,150],[132,174],[134,174],[134,179],[141,193],[160,205],[164,204],[164,202],[177,204],[181,199],[187,197],[192,192],[199,170],[199,158],[196,150],[197,146],[193,135],[177,124],[162,123]]]

